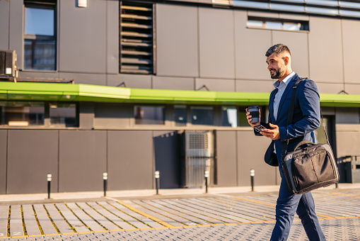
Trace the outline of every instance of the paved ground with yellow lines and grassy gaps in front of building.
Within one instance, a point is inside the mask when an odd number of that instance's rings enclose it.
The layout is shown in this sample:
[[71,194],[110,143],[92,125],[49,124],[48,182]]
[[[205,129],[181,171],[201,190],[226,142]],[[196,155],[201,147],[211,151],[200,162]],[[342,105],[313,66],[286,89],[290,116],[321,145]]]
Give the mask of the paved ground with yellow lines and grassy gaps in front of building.
[[[327,240],[360,240],[360,189],[313,196]],[[0,238],[269,240],[276,198],[272,192],[0,202]],[[289,240],[308,240],[297,217]]]

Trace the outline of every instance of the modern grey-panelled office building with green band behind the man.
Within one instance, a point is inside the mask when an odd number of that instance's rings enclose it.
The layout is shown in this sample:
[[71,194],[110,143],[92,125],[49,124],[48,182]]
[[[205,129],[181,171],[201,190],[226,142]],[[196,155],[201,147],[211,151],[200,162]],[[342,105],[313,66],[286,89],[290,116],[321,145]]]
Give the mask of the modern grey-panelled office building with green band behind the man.
[[318,84],[337,157],[360,156],[359,30],[351,0],[0,0],[0,194],[46,192],[48,173],[54,192],[100,191],[103,172],[109,190],[153,189],[156,170],[161,188],[205,170],[279,184],[245,119],[267,118],[276,43]]

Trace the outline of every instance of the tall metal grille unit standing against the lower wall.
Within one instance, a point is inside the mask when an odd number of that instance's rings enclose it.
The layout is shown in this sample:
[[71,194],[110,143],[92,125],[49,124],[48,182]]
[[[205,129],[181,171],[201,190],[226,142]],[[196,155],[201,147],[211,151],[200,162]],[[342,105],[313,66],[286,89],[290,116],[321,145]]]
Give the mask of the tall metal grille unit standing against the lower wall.
[[204,172],[210,171],[213,157],[210,131],[185,131],[185,158],[182,181],[185,187],[204,186]]

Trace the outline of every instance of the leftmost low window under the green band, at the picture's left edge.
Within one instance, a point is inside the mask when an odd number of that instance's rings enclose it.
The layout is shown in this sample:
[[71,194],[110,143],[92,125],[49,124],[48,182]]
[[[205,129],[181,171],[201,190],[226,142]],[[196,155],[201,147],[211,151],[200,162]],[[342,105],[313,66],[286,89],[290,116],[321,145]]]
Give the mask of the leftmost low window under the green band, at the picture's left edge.
[[1,125],[30,126],[44,125],[45,107],[43,102],[0,102]]

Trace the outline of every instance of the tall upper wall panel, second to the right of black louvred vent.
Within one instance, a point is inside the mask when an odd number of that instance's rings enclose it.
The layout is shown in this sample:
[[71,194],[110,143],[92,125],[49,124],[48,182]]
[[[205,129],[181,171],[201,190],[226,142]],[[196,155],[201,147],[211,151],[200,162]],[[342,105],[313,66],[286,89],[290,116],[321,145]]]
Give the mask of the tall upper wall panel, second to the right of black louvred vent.
[[200,77],[235,78],[233,11],[199,8]]

